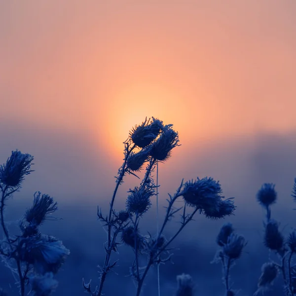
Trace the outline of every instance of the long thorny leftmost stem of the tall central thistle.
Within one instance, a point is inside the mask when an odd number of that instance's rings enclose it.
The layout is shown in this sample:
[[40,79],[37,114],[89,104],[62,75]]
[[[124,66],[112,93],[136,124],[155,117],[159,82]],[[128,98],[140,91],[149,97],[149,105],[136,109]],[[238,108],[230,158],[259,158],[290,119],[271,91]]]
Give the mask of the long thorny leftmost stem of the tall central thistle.
[[[136,145],[133,145],[132,148],[130,148],[128,150],[128,144],[126,144],[126,145],[127,145],[127,151],[126,151],[126,154],[125,154],[125,157],[124,157],[124,162],[123,162],[123,165],[121,167],[119,177],[116,180],[116,186],[115,186],[115,189],[114,189],[114,192],[113,192],[113,195],[112,195],[112,199],[111,199],[111,203],[110,203],[110,211],[109,211],[109,217],[108,217],[109,222],[111,222],[111,219],[112,219],[113,204],[114,204],[114,200],[115,200],[115,196],[116,196],[118,187],[121,184],[121,182],[123,180],[123,177],[125,175],[127,158],[130,155],[130,153],[132,152],[132,150],[136,147]],[[112,248],[111,248],[111,224],[109,223],[108,224],[108,250],[106,251],[105,262],[104,262],[104,271],[103,271],[103,273],[101,275],[100,287],[99,287],[97,296],[102,295],[103,285],[104,285],[106,275],[107,275],[107,272],[108,272],[107,271],[107,266],[108,266],[108,264],[110,262],[111,252],[112,252]]]

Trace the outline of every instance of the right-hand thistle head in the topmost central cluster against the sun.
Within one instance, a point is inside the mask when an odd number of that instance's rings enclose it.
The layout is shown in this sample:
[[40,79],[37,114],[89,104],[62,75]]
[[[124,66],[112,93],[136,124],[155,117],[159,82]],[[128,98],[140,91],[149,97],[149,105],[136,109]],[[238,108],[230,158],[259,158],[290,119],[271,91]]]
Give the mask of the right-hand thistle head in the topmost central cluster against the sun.
[[166,161],[172,149],[178,146],[178,133],[172,129],[172,124],[164,126],[160,137],[151,145],[150,155],[159,161]]

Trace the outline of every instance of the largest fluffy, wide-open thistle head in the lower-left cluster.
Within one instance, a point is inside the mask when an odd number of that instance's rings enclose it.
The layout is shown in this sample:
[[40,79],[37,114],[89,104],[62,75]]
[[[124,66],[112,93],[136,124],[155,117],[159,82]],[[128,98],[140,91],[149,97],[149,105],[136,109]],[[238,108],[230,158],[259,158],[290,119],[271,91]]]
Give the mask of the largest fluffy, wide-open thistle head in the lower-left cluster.
[[35,270],[44,274],[57,273],[70,251],[53,236],[37,235],[25,238],[20,245],[20,259],[34,264]]

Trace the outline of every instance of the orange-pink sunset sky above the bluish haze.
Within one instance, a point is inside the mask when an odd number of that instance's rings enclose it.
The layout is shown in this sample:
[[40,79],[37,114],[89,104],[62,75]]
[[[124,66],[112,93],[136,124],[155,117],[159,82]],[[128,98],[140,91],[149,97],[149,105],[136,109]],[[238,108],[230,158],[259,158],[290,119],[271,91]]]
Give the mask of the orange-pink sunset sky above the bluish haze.
[[122,151],[146,116],[181,143],[296,128],[294,0],[0,3],[0,120]]

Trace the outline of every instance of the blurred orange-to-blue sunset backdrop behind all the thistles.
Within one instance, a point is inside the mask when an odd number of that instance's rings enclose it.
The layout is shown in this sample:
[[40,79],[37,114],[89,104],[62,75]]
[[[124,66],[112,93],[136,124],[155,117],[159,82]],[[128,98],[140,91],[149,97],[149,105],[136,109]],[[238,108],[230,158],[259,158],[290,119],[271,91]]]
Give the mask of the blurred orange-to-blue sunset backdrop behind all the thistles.
[[[43,231],[61,239],[71,256],[55,295],[82,295],[82,277],[98,283],[106,234],[97,206],[108,210],[122,142],[146,116],[174,124],[182,144],[159,166],[161,215],[167,193],[197,176],[220,180],[237,206],[235,216],[218,222],[197,216],[185,228],[174,243],[175,264],[161,266],[162,294],[173,295],[176,276],[185,272],[196,295],[223,295],[221,266],[210,261],[220,227],[232,222],[249,241],[232,269],[233,289],[253,295],[268,259],[256,202],[262,183],[276,184],[272,216],[281,229],[295,226],[295,13],[293,0],[0,2],[0,163],[19,149],[35,156],[36,170],[8,201],[6,219],[21,218],[37,190],[58,202],[63,220]],[[135,185],[128,176],[116,209]],[[152,200],[143,233],[156,232],[155,213]],[[122,247],[119,259],[105,293],[133,295],[126,277],[132,251]],[[151,270],[144,296],[156,294],[156,280]],[[269,295],[282,295],[281,285],[278,279]],[[0,286],[17,295],[3,265]]]

